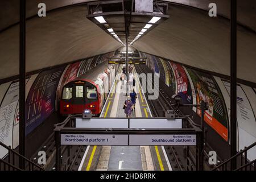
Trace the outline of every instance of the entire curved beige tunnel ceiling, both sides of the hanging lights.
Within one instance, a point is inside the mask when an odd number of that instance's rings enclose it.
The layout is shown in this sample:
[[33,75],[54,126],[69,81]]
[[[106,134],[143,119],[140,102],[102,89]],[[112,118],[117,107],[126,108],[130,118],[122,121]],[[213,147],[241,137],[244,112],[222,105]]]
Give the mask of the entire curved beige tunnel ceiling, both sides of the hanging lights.
[[[199,6],[202,6],[198,3],[200,1],[176,0],[172,2],[180,2],[204,9],[204,7]],[[49,9],[81,2],[85,2],[85,0],[51,0]],[[238,1],[238,11],[241,9],[239,6],[241,2]],[[7,10],[5,9],[7,9],[6,6],[10,6],[10,3],[16,5],[16,7],[12,6],[13,9],[10,11],[17,9],[17,0],[6,1],[5,3],[1,1],[1,4],[5,5],[1,6],[1,9],[4,10],[1,17],[6,15]],[[30,9],[36,3],[39,1],[28,0],[28,16],[36,13],[34,9]],[[226,5],[226,3],[224,4]],[[253,7],[255,6],[249,6],[248,9],[251,10]],[[47,10],[49,9],[47,7]],[[170,19],[148,32],[133,46],[139,51],[229,75],[229,21],[221,16],[210,18],[207,11],[188,6],[170,4],[168,12]],[[221,12],[225,15],[225,12],[228,11],[221,10]],[[8,11],[8,13],[10,12]],[[114,51],[121,46],[106,32],[86,19],[86,14],[86,5],[77,5],[50,11],[46,18],[35,16],[27,20],[26,71],[30,72]],[[13,19],[6,16],[5,23],[1,19],[1,30],[17,22],[18,15],[11,17]],[[254,31],[238,27],[238,77],[256,82],[255,22],[251,20],[255,14],[250,13],[249,16],[245,15],[245,17],[247,17],[245,18],[245,22],[247,22],[245,26]],[[238,16],[238,19],[241,18]],[[0,33],[0,56],[0,78],[17,75],[19,70],[19,27],[17,25]]]

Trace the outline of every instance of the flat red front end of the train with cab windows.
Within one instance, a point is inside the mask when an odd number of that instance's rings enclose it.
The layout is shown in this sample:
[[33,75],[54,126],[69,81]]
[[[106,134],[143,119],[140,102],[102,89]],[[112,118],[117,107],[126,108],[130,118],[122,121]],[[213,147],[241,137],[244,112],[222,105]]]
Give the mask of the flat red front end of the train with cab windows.
[[90,109],[93,115],[100,114],[100,94],[97,86],[87,81],[72,81],[63,87],[60,114],[81,114]]

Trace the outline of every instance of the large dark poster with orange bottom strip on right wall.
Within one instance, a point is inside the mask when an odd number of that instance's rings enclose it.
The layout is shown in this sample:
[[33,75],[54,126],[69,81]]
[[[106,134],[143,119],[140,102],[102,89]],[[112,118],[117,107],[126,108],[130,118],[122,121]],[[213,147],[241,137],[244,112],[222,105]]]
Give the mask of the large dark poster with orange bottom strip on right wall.
[[[196,90],[196,102],[208,102],[209,110],[205,111],[204,121],[208,123],[222,138],[228,141],[228,115],[224,98],[213,77],[207,73],[187,68]],[[201,110],[196,113],[201,116]]]

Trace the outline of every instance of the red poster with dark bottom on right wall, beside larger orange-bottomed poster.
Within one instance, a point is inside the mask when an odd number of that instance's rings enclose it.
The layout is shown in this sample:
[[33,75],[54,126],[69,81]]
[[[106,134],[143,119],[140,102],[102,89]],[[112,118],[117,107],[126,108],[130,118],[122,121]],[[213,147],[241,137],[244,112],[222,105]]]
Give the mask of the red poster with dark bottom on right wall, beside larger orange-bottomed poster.
[[173,63],[171,61],[172,69],[177,82],[177,94],[182,98],[184,104],[192,104],[193,97],[191,92],[191,86],[188,81],[187,74],[180,64]]

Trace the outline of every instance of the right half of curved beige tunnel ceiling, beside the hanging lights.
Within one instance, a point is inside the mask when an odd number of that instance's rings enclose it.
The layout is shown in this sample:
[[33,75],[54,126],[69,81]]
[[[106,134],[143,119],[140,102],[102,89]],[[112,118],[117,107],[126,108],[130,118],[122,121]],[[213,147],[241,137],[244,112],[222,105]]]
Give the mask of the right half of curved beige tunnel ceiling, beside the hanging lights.
[[[192,67],[230,75],[230,29],[224,18],[189,7],[170,5],[170,18],[134,43],[139,51]],[[256,34],[238,26],[237,77],[256,82]]]

